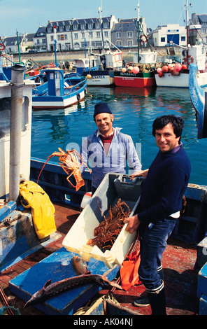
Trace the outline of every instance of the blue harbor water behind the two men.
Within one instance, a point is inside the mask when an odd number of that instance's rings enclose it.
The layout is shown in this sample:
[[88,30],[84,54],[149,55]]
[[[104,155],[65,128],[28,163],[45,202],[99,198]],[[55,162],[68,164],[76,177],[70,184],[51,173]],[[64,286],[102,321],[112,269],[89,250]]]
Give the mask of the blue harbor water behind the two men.
[[195,111],[188,89],[87,87],[85,100],[79,104],[67,109],[33,110],[31,156],[46,160],[58,148],[66,151],[73,147],[78,151],[83,138],[97,129],[93,113],[99,102],[108,103],[115,116],[113,126],[122,127],[124,134],[131,135],[143,169],[150,166],[158,151],[152,137],[153,120],[164,114],[181,116],[185,120],[183,146],[192,164],[190,183],[207,185],[207,139],[197,139]]

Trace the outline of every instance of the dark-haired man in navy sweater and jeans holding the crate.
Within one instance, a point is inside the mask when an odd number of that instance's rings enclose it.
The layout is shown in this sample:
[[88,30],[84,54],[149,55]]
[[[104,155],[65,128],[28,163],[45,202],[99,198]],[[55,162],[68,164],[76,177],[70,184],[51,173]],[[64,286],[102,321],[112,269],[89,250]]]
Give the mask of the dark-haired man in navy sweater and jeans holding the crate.
[[152,314],[166,314],[162,254],[180,216],[182,199],[190,179],[190,160],[180,141],[183,120],[176,116],[155,119],[152,135],[159,152],[149,169],[131,176],[145,176],[137,214],[125,220],[126,230],[140,232],[139,278],[147,297],[134,301],[138,307],[150,304]]

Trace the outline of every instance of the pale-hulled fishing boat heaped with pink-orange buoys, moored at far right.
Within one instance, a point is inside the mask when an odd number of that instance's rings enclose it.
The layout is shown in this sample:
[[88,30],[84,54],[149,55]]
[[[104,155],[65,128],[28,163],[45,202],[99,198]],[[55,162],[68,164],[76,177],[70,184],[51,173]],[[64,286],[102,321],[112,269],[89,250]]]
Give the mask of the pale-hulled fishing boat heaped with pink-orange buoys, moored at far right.
[[[205,43],[197,43],[190,45],[189,33],[189,17],[188,17],[188,1],[186,1],[186,31],[187,31],[187,47],[183,48],[180,62],[174,64],[162,63],[155,71],[155,80],[157,87],[189,87],[189,69],[190,64],[194,63],[198,66],[197,80],[201,87],[207,85],[207,57]],[[194,26],[193,26],[194,28]],[[173,45],[173,43],[171,43]]]

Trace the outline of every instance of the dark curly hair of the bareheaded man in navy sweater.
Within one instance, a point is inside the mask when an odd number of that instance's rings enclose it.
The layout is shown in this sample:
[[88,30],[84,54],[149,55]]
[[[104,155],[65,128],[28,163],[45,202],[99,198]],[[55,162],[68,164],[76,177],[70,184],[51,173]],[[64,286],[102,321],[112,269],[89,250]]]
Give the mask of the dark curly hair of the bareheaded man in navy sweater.
[[176,137],[181,137],[184,128],[184,120],[181,117],[173,115],[156,118],[152,124],[152,135],[155,136],[156,130],[162,130],[169,123],[173,126],[173,132]]

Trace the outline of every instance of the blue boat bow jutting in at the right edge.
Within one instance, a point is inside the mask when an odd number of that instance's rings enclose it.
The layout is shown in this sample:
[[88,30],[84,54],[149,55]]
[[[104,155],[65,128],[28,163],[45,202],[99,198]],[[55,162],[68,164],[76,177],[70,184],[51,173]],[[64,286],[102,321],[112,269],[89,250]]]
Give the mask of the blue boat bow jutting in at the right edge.
[[190,64],[189,70],[190,99],[196,111],[198,139],[207,137],[207,92],[199,85],[198,66]]

